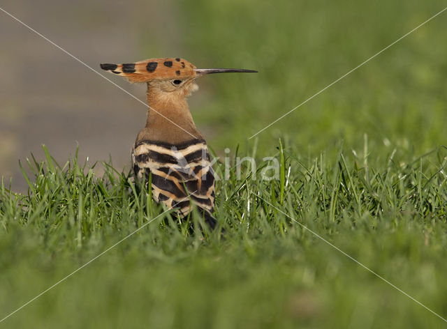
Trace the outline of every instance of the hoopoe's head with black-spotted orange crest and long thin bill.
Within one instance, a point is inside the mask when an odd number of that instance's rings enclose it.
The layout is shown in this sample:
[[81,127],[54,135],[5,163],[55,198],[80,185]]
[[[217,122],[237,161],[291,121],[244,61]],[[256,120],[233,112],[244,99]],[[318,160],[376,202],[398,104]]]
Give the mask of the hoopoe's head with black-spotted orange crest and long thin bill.
[[186,98],[198,89],[194,80],[210,73],[257,72],[234,68],[196,68],[185,59],[146,59],[136,63],[101,64],[103,70],[126,77],[129,82],[147,82],[148,93],[157,98]]

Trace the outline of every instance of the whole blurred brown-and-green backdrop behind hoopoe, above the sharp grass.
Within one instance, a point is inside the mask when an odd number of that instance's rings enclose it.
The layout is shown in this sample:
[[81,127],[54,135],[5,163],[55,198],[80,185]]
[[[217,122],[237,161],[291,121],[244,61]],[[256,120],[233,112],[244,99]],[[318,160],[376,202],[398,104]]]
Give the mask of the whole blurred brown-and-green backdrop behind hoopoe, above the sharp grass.
[[[253,145],[258,132],[442,9],[442,1],[52,1],[45,15],[33,3],[6,10],[92,68],[158,56],[182,56],[198,67],[252,68],[257,75],[199,80],[190,99],[196,124],[219,154]],[[413,153],[447,136],[444,14],[258,135],[260,155],[279,137],[300,156],[358,150]],[[128,165],[145,124],[145,108],[94,72],[21,26],[0,20],[0,172],[26,185],[17,159],[60,162],[80,146],[89,161]],[[106,72],[103,72],[104,74]],[[145,86],[106,75],[145,100]]]

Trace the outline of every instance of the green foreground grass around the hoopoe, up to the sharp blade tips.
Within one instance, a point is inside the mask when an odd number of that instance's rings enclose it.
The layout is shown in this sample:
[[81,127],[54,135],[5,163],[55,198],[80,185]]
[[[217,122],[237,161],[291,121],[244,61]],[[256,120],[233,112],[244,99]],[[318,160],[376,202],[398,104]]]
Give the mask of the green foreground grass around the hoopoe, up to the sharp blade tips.
[[[342,148],[336,160],[321,154],[302,163],[285,147],[286,170],[270,182],[252,174],[237,181],[232,167],[230,179],[218,184],[223,237],[191,233],[191,223],[159,216],[163,210],[107,164],[97,176],[76,158],[62,168],[45,153],[45,162],[28,164],[35,183],[27,195],[4,185],[0,190],[2,317],[142,229],[3,326],[443,324],[297,222],[446,316],[444,148],[407,162],[392,154],[380,167],[369,167],[363,156]],[[223,170],[219,164],[217,172]]]

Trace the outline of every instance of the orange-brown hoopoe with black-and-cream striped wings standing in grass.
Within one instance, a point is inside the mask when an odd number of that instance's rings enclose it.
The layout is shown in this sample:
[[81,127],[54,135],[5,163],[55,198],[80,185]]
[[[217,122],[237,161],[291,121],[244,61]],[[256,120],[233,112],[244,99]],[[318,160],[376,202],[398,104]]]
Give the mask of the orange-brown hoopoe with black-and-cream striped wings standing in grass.
[[257,71],[196,68],[180,58],[101,64],[101,68],[129,82],[147,83],[147,122],[132,148],[135,176],[147,185],[150,182],[154,201],[174,208],[180,217],[191,213],[192,201],[205,222],[214,228],[214,171],[186,98],[198,89],[194,81],[203,75]]

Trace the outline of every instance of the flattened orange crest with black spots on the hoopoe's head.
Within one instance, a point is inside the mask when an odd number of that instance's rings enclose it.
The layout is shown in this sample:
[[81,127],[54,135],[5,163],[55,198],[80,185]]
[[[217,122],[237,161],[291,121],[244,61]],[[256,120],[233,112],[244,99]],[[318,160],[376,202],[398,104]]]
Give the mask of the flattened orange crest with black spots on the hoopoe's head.
[[146,59],[136,63],[101,64],[103,70],[126,77],[130,82],[148,82],[152,79],[185,79],[196,76],[196,66],[185,59]]

